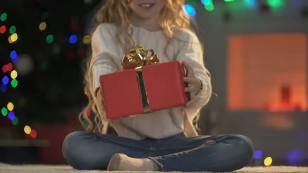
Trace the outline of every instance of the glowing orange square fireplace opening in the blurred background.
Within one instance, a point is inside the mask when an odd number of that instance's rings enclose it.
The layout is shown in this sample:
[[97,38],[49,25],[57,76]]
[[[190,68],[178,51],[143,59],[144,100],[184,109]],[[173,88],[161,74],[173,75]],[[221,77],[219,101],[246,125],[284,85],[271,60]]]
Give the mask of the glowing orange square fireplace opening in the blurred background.
[[[307,110],[307,36],[237,34],[228,38],[229,110]],[[282,100],[287,86],[289,101]]]

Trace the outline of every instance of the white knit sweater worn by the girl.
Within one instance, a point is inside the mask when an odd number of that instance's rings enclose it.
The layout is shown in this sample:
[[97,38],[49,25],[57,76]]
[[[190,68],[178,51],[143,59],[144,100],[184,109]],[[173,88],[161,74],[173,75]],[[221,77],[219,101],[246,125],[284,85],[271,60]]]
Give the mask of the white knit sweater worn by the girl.
[[[124,51],[115,36],[117,29],[114,24],[104,23],[100,24],[93,33],[91,40],[93,91],[100,86],[100,75],[122,70],[121,61]],[[132,31],[135,43],[145,49],[154,50],[161,63],[178,60],[185,61],[193,67],[195,75],[202,82],[203,89],[195,97],[193,103],[187,107],[180,106],[135,117],[113,119],[110,124],[120,137],[136,140],[147,137],[167,138],[183,131],[187,137],[198,135],[191,121],[209,101],[212,88],[197,36],[188,30],[175,30],[176,38],[173,38],[168,45],[168,56],[166,56],[167,39],[163,30],[151,32],[141,27],[132,26]]]

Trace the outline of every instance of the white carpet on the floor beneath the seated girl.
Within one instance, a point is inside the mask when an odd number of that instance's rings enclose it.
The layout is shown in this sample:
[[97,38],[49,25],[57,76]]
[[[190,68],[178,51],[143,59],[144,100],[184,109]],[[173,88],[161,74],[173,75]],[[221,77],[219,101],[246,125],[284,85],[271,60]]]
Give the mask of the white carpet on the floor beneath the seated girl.
[[[0,163],[0,172],[2,173],[105,173],[109,171],[99,170],[74,170],[67,165],[10,165]],[[134,173],[138,171],[110,171],[110,172],[129,172]],[[155,171],[146,171],[153,173]],[[308,173],[308,167],[295,167],[295,166],[269,166],[269,167],[244,167],[243,169],[235,171],[237,173]],[[176,173],[176,172],[175,172]],[[193,172],[191,172],[193,173]],[[197,172],[194,172],[197,173]],[[210,173],[210,172],[203,172]]]

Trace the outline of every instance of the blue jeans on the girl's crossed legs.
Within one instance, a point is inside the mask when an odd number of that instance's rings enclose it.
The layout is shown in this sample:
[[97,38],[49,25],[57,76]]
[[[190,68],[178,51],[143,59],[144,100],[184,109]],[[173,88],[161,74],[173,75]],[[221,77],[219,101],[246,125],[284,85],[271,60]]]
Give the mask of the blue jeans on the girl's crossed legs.
[[[214,145],[202,145],[213,140]],[[113,154],[149,158],[163,171],[233,171],[252,158],[251,141],[242,135],[198,136],[178,134],[141,141],[92,132],[73,132],[64,139],[63,155],[75,169],[106,170]]]

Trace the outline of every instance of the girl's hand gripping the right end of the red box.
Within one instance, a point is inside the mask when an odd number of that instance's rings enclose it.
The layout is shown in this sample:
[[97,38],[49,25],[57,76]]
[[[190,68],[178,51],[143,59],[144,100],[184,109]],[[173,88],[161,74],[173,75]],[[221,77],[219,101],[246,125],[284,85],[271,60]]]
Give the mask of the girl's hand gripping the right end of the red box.
[[187,103],[187,105],[189,105],[194,97],[200,92],[202,84],[201,80],[195,76],[194,69],[184,61],[182,63],[184,64],[187,73],[186,77],[184,77],[184,82],[187,82],[188,84],[188,87],[185,88],[185,92],[189,92],[190,101]]

